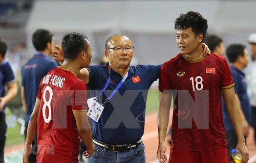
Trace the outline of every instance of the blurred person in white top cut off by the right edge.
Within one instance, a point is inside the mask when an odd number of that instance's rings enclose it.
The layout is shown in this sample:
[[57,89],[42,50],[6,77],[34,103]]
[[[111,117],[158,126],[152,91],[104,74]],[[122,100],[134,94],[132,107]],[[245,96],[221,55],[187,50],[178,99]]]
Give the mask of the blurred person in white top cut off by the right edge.
[[256,33],[248,39],[251,51],[251,60],[245,70],[247,91],[251,104],[251,126],[254,129],[254,141],[256,141]]

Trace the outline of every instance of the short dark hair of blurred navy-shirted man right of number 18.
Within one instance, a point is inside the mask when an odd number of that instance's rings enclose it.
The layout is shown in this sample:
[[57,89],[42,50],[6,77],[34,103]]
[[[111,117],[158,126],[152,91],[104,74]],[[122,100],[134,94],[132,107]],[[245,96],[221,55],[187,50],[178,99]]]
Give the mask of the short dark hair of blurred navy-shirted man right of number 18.
[[230,63],[237,61],[239,56],[244,56],[245,45],[243,44],[230,44],[226,48],[226,55]]

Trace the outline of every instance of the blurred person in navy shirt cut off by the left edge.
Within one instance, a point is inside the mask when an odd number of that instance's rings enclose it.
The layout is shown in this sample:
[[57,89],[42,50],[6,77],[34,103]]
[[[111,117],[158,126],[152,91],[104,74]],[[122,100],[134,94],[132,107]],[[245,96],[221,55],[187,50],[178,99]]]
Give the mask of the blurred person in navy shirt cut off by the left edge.
[[[5,121],[5,106],[18,92],[16,79],[9,62],[6,60],[7,43],[0,39],[0,162],[4,162],[4,147],[7,125]],[[5,92],[5,86],[8,90]]]

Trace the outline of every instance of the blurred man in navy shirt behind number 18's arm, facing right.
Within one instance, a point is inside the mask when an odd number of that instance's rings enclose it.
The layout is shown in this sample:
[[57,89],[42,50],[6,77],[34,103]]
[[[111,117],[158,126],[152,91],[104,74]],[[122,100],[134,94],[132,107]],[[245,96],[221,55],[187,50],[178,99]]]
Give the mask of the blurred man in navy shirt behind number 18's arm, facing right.
[[[246,50],[246,47],[242,44],[231,44],[226,48],[226,56],[230,63],[229,68],[231,71],[233,82],[235,83],[234,92],[236,93],[238,108],[242,119],[243,133],[246,140],[249,129],[248,124],[250,123],[251,107],[247,94],[245,74],[242,72],[242,70],[246,68],[249,61],[248,51]],[[228,144],[228,160],[232,162],[233,159],[231,157],[231,150],[233,148],[236,148],[238,140],[223,100],[222,113],[224,127],[226,131],[226,140]]]

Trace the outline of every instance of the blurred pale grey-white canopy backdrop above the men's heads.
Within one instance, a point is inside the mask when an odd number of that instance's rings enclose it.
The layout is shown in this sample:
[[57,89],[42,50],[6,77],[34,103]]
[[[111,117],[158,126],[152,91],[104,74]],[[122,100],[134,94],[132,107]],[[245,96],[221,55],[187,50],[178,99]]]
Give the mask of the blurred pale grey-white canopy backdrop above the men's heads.
[[140,63],[162,63],[177,54],[174,21],[188,11],[200,12],[208,32],[226,43],[246,44],[256,32],[255,1],[36,1],[26,28],[28,50],[32,55],[31,37],[39,28],[53,32],[56,43],[67,33],[80,32],[88,36],[97,58],[109,36],[125,33]]

